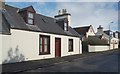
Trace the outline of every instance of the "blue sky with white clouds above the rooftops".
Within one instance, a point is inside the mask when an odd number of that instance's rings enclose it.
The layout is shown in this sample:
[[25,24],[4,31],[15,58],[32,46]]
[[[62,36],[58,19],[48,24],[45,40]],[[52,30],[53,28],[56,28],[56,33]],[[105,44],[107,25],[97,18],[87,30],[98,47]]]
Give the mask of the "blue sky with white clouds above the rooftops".
[[89,0],[89,2],[87,2],[88,0],[18,1],[19,2],[10,2],[6,0],[6,4],[18,8],[32,5],[37,13],[53,18],[58,14],[58,10],[67,9],[67,12],[71,14],[72,27],[92,25],[96,32],[99,25],[102,25],[104,30],[108,30],[110,25],[111,30],[118,30],[119,0]]

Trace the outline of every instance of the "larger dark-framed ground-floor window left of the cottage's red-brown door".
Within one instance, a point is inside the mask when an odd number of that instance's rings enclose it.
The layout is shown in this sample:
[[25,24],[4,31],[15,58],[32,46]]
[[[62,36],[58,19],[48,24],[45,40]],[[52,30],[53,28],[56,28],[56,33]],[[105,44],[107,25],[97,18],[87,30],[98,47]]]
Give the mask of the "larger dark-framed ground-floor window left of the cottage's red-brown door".
[[45,35],[40,35],[40,47],[39,54],[50,54],[50,37]]

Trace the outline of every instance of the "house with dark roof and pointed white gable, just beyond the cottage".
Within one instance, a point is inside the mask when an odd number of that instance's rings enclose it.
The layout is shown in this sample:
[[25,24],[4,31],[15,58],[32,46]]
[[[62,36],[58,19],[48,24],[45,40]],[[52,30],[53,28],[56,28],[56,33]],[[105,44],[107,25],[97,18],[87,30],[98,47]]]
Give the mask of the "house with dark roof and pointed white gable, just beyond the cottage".
[[76,32],[78,32],[82,36],[82,41],[88,38],[88,36],[95,36],[94,29],[92,25],[90,26],[83,26],[83,27],[76,27],[74,28]]

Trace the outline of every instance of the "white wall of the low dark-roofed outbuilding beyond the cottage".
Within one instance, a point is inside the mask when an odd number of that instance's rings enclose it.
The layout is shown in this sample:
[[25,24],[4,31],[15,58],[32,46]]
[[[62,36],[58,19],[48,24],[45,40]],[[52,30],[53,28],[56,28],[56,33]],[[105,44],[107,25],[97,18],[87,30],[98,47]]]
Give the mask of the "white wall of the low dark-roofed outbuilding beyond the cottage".
[[89,52],[100,52],[109,50],[109,46],[107,45],[88,45]]

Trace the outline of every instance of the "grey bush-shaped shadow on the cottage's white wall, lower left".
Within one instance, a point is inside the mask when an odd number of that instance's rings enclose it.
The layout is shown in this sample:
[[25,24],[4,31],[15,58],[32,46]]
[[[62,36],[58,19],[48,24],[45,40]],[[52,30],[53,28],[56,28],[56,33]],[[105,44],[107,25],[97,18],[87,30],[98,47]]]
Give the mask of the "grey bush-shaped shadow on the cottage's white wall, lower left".
[[18,45],[17,45],[14,52],[13,52],[12,48],[10,48],[8,50],[8,57],[7,57],[6,60],[3,61],[3,64],[14,63],[14,62],[22,62],[22,61],[25,61],[25,56],[22,53],[20,53]]

